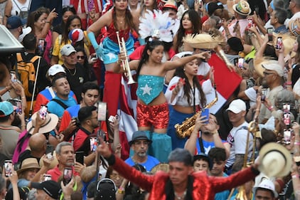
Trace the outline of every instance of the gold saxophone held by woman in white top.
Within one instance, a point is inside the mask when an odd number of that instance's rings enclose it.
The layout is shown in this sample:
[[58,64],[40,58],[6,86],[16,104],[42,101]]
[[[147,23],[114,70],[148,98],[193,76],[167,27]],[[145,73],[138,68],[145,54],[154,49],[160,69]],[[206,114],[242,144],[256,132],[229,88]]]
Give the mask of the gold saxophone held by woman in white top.
[[[204,108],[210,108],[215,104],[215,102],[218,101],[218,93],[215,85],[213,85],[213,88],[215,88],[215,98],[213,99],[213,101],[208,103],[208,105],[206,105]],[[199,115],[200,115],[200,111],[196,112],[195,115],[193,115],[192,117],[186,118],[186,120],[184,120],[181,125],[176,124],[174,127],[176,129],[177,136],[180,138],[190,137],[195,127],[195,119]]]

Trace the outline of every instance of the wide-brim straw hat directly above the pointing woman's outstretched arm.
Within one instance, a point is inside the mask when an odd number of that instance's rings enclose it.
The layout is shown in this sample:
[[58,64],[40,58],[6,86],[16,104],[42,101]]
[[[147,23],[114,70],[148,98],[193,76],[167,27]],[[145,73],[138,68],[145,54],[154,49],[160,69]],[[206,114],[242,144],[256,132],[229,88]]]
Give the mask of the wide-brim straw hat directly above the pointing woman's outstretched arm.
[[183,43],[187,43],[192,48],[213,49],[222,42],[223,40],[221,40],[220,38],[213,38],[206,33],[200,33],[196,35],[188,34],[183,38]]

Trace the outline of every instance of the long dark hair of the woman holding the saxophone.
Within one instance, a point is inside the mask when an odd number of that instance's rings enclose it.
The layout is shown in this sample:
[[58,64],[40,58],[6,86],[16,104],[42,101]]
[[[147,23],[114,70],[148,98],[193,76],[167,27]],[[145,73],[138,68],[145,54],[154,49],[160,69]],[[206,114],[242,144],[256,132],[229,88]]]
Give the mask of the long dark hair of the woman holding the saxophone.
[[[189,56],[189,55],[186,55]],[[183,57],[186,57],[183,56]],[[188,77],[186,76],[186,73],[184,73],[184,65],[176,68],[174,76],[178,76],[180,78],[184,78],[186,80],[186,84],[183,85],[183,92],[184,95],[186,96],[186,98],[188,98],[188,103],[189,104],[193,104],[192,102],[192,97],[191,97],[191,90],[192,90],[192,85],[189,83],[188,81]],[[200,93],[200,103],[201,103],[201,107],[204,107],[206,105],[206,98],[205,98],[205,94],[202,90],[202,86],[199,83],[198,77],[196,75],[193,76],[193,86],[195,85],[195,87],[197,87],[197,89],[199,90]]]

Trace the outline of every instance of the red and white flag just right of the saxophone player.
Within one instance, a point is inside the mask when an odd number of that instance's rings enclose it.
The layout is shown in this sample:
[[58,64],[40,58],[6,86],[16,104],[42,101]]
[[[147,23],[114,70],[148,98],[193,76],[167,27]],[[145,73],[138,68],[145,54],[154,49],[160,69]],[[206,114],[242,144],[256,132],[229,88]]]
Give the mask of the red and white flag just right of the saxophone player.
[[[208,60],[208,64],[215,70],[214,78],[218,93],[218,102],[216,102],[213,107],[210,107],[210,112],[215,114],[218,112],[220,107],[224,105],[227,99],[230,98],[230,95],[232,95],[235,89],[240,85],[242,78],[240,75],[235,73],[235,71],[231,72],[227,68],[225,62],[219,56],[217,56],[216,53],[212,54],[210,60]],[[210,93],[205,93],[207,103],[212,102],[213,99],[215,99],[215,89],[210,89]],[[203,90],[205,90],[205,87],[203,87]]]

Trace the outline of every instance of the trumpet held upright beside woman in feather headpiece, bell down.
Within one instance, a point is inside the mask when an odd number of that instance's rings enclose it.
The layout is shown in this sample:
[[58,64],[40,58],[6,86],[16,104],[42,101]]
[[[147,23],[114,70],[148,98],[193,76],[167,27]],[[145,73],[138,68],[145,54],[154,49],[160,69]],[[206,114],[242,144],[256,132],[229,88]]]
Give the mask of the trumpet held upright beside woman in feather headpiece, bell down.
[[125,60],[122,60],[122,66],[123,66],[123,70],[124,70],[124,75],[128,78],[128,84],[132,84],[132,83],[136,83],[134,81],[134,79],[132,78],[132,72],[130,70],[129,67],[129,63],[128,63],[128,56],[127,56],[127,50],[126,50],[126,43],[124,41],[124,38],[121,38],[122,41],[120,41],[119,38],[119,31],[116,31],[117,33],[117,40],[118,40],[118,44],[119,44],[119,51],[120,52],[124,52],[124,56],[125,56]]

